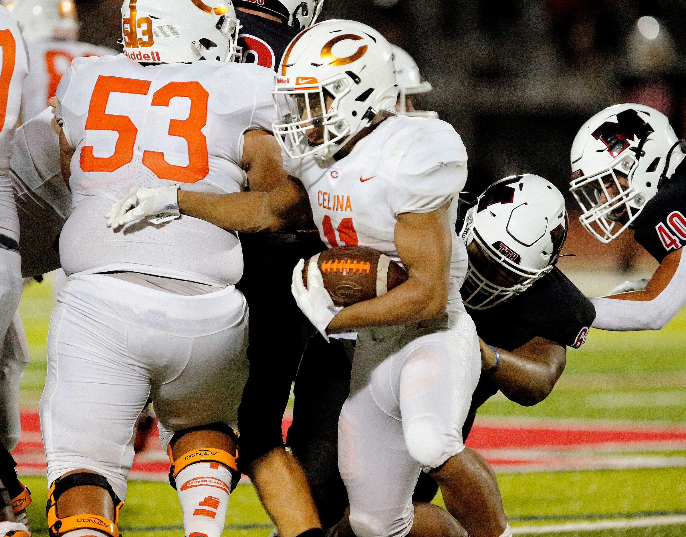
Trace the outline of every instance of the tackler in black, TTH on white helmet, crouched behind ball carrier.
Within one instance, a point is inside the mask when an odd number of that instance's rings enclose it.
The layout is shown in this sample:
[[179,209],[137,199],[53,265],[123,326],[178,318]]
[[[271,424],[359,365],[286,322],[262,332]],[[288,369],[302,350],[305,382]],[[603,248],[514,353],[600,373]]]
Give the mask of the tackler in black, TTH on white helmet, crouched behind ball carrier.
[[[476,202],[466,198],[460,199],[458,218],[469,254],[461,294],[482,339],[483,370],[462,428],[465,439],[477,409],[498,390],[520,405],[543,401],[565,368],[566,347],[584,343],[595,315],[589,300],[554,267],[567,235],[565,200],[554,185],[526,174],[496,182]],[[324,346],[310,342],[300,364],[293,427],[296,417],[303,420],[296,429],[298,450],[306,456],[316,451],[308,473],[322,488],[315,499],[326,525],[331,521],[322,512],[340,518],[348,506],[332,469],[350,366],[345,360],[331,364]],[[413,499],[430,502],[437,490],[436,481],[422,473]]]

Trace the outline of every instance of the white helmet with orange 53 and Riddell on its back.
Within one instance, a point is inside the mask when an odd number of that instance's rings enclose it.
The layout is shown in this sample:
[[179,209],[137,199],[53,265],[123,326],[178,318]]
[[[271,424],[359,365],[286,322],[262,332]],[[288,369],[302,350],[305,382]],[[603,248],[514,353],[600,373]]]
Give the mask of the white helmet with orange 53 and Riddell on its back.
[[141,63],[233,62],[240,24],[231,0],[124,0],[124,53]]

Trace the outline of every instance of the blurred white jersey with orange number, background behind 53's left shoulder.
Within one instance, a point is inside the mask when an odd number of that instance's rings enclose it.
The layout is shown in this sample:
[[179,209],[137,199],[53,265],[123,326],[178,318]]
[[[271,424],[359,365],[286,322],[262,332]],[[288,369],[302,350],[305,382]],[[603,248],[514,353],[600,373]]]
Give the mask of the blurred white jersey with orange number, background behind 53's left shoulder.
[[24,84],[21,118],[29,121],[45,110],[47,99],[54,97],[62,75],[74,58],[82,56],[117,56],[119,52],[79,41],[48,39],[29,43],[29,75]]

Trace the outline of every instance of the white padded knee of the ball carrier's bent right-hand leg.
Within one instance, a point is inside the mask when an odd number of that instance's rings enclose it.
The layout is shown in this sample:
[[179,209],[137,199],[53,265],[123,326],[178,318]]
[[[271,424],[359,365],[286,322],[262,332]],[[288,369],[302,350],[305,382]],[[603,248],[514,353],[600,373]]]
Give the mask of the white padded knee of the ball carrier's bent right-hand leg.
[[405,427],[407,451],[425,470],[439,466],[462,449],[462,440],[443,431],[436,416],[421,416]]

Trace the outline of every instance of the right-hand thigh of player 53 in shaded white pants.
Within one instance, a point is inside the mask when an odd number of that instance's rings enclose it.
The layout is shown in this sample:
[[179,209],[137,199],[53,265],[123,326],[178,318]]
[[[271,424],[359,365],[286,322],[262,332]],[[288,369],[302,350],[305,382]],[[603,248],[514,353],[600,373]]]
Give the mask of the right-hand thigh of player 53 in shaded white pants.
[[[173,378],[154,379],[150,396],[161,431],[224,422],[237,427],[238,406],[248,379],[247,313],[233,326],[197,337],[167,335],[185,366]],[[163,444],[166,435],[164,435]]]

